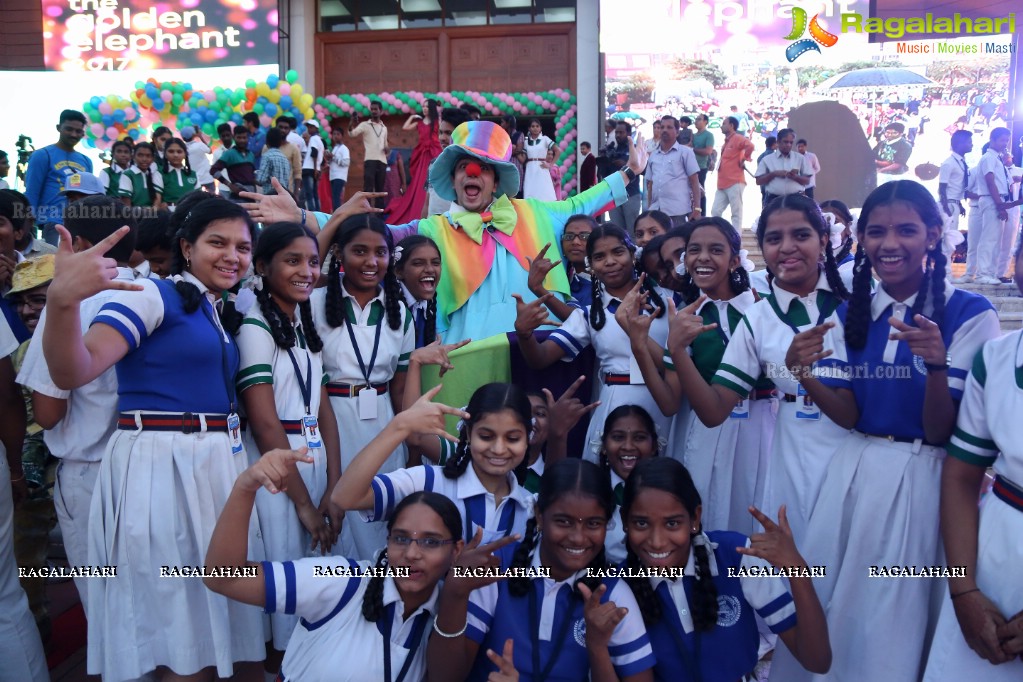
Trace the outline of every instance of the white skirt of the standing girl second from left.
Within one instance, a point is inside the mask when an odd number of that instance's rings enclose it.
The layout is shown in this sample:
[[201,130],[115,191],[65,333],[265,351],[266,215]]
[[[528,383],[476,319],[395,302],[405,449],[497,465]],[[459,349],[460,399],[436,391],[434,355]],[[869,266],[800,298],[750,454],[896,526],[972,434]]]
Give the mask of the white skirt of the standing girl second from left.
[[[259,448],[252,436],[252,429],[246,433],[246,452],[249,453],[250,464],[256,463],[260,458]],[[306,438],[302,435],[287,436],[287,445],[294,450],[304,448]],[[309,499],[313,506],[319,506],[323,494],[326,492],[326,451],[317,448],[309,451],[309,456],[315,461],[312,464],[299,462],[299,473],[309,491]],[[299,512],[295,508],[292,498],[286,493],[270,493],[266,488],[260,488],[256,493],[256,512],[259,517],[259,532],[263,540],[263,554],[267,561],[292,561],[304,556],[319,556],[320,548],[316,547],[315,552],[309,550],[312,536],[306,531],[299,519]],[[273,641],[273,648],[283,651],[287,647],[287,641],[292,638],[292,631],[299,624],[298,616],[288,616],[275,611],[264,615],[264,620],[268,621],[271,637],[267,641]]]

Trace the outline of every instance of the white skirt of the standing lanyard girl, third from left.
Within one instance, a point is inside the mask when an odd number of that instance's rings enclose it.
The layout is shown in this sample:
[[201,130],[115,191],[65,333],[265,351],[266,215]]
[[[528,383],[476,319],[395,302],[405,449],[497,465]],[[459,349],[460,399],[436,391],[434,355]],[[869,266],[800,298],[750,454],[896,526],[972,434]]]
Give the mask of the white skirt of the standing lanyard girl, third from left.
[[[330,407],[338,420],[338,433],[341,435],[341,472],[352,463],[369,442],[376,438],[394,418],[394,407],[391,405],[391,394],[376,396],[376,418],[359,419],[359,399],[330,396]],[[391,453],[377,473],[389,473],[404,468],[408,463],[408,449],[401,444]],[[345,526],[342,528],[340,542],[335,545],[333,555],[351,557],[358,560],[374,561],[376,552],[387,545],[387,524],[385,521],[367,522],[358,511],[345,513]]]

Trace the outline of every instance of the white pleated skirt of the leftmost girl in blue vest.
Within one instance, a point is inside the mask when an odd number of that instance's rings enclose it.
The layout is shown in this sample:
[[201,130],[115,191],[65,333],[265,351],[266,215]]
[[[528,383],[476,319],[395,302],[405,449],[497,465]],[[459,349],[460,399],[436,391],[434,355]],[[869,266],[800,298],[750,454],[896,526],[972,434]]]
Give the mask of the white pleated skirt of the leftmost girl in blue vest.
[[[189,675],[265,655],[261,609],[216,594],[199,578],[161,578],[161,566],[202,566],[244,452],[227,434],[116,430],[89,516],[89,563],[117,578],[89,584],[90,675],[138,678],[160,666]],[[263,557],[255,514],[249,558]]]

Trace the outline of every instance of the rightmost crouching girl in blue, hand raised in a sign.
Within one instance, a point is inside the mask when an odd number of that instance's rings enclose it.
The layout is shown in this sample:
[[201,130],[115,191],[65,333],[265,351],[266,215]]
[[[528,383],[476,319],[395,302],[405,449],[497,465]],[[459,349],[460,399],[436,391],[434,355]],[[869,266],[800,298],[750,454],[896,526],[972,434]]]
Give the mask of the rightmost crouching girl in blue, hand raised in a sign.
[[[747,679],[757,664],[760,640],[755,613],[807,670],[825,673],[831,666],[824,610],[785,506],[777,524],[756,507],[749,512],[763,525],[763,533],[748,538],[730,531],[704,532],[700,493],[685,467],[667,457],[640,462],[625,484],[625,567],[683,572],[679,580],[626,579],[650,633],[655,679]],[[783,580],[764,578],[771,566],[807,575],[790,577],[790,591]]]

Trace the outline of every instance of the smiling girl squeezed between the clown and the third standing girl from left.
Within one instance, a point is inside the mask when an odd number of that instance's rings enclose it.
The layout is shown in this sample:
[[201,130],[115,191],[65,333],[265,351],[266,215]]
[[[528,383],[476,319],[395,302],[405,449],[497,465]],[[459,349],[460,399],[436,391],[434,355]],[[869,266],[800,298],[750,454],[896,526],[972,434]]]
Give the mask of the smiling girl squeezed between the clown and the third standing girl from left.
[[412,234],[394,247],[394,272],[401,282],[405,305],[412,311],[415,348],[437,338],[437,284],[441,278],[441,252],[433,239]]

